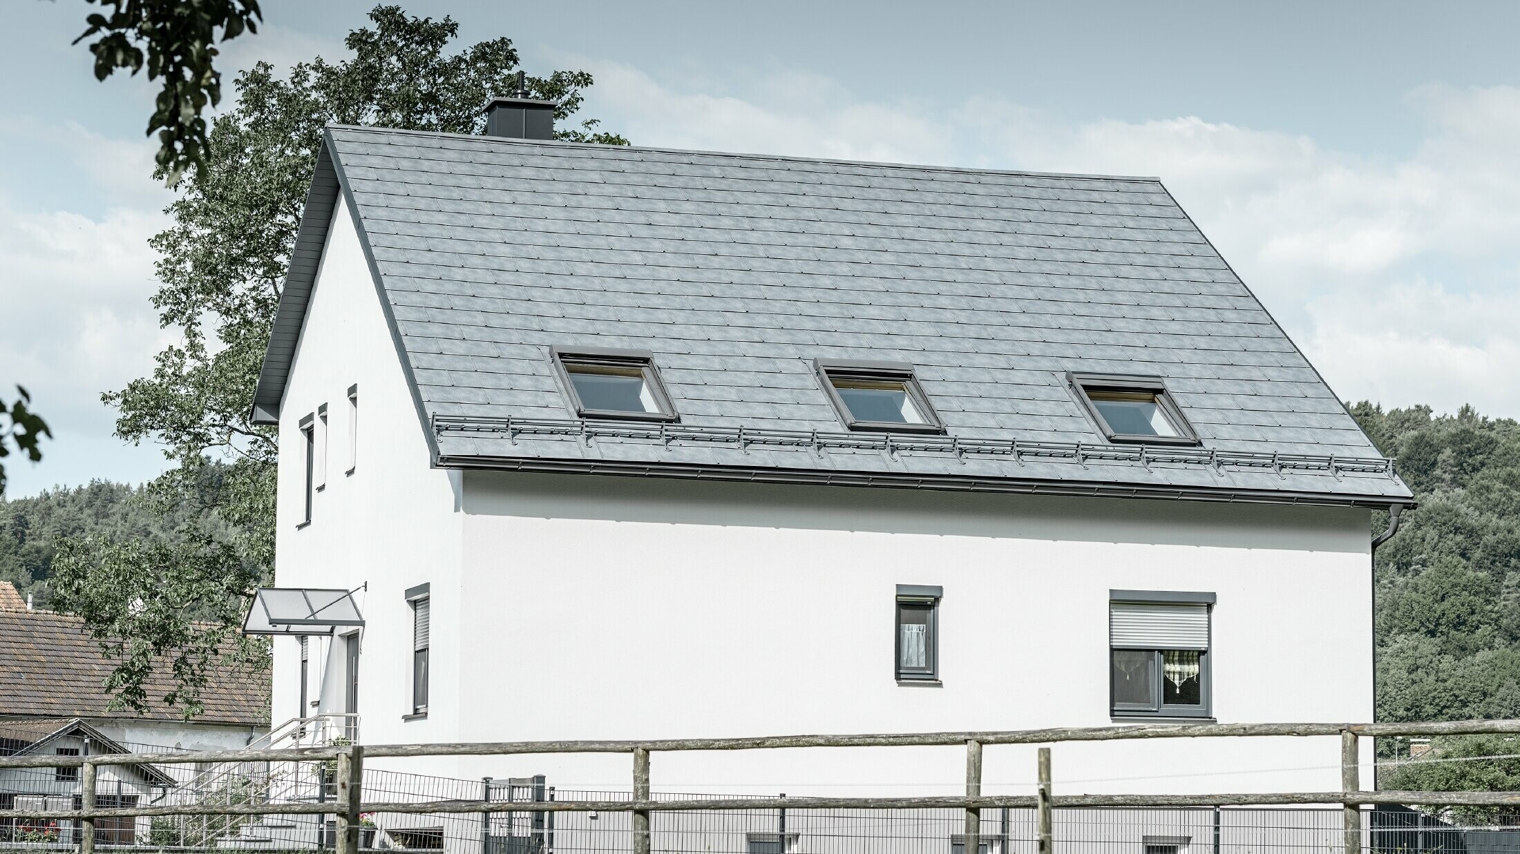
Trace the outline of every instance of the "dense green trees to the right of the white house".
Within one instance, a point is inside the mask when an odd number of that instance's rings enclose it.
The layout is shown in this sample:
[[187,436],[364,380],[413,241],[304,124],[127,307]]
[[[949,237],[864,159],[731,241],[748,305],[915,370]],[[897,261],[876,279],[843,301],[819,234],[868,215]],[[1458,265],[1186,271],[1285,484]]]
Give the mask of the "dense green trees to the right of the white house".
[[[1377,550],[1377,714],[1380,720],[1520,717],[1520,424],[1471,407],[1353,415],[1420,501]],[[1374,527],[1386,524],[1377,514]],[[1385,758],[1406,755],[1385,740]],[[1520,786],[1520,743],[1497,735],[1436,739],[1430,760],[1379,783],[1391,789],[1506,790]],[[1488,757],[1488,758],[1477,758]],[[1447,811],[1470,822],[1520,819]]]

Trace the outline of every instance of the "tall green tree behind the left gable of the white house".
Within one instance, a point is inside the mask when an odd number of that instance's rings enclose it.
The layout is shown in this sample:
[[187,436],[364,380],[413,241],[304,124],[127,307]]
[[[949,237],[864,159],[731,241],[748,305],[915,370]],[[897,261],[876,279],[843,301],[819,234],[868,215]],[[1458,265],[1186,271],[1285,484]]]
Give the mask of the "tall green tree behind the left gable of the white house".
[[[108,684],[119,705],[144,705],[157,655],[172,658],[176,688],[155,699],[187,716],[201,711],[208,669],[268,655],[237,634],[246,597],[274,565],[275,435],[249,410],[322,128],[479,134],[488,96],[509,91],[517,71],[506,38],[450,52],[459,27],[447,17],[377,6],[369,20],[345,41],[351,59],[316,58],[284,76],[260,62],[239,74],[237,108],[214,122],[196,179],[167,210],[173,225],[152,240],[161,258],[154,305],[182,343],[105,401],[120,410],[119,436],[157,441],[175,463],[147,485],[144,506],[169,515],[201,501],[205,512],[173,539],[67,539],[52,580],[58,606],[84,615],[96,637],[119,638],[108,647],[122,661]],[[553,71],[527,85],[556,100],[565,122],[591,76]],[[594,120],[558,135],[626,144]]]

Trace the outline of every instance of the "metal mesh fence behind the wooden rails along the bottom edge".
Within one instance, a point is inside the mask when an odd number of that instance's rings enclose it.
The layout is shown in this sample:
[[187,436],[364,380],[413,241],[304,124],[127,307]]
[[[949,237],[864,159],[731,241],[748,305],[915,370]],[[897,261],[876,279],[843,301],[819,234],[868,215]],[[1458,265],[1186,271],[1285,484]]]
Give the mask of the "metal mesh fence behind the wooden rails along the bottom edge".
[[[3,739],[3,732],[0,732]],[[122,745],[138,754],[172,752]],[[29,749],[35,752],[36,745]],[[47,751],[74,749],[67,740]],[[79,749],[87,749],[84,745]],[[8,751],[0,742],[0,755]],[[324,804],[337,798],[336,761],[222,761],[100,766],[97,807],[175,804]],[[502,801],[511,811],[365,814],[366,851],[448,854],[632,852],[628,811],[550,811],[553,801],[629,801],[631,792],[558,789],[543,777],[459,780],[366,767],[368,802]],[[658,793],[654,799],[731,799],[739,795]],[[652,811],[652,852],[711,854],[968,854],[958,808],[824,808]],[[0,769],[0,808],[81,805],[79,769]],[[1366,854],[1520,854],[1520,827],[1465,825],[1404,807],[1363,810]],[[1339,807],[1055,808],[1059,854],[1344,854]],[[0,854],[79,846],[70,821],[0,819]],[[135,851],[331,851],[334,819],[316,814],[140,816],[97,819],[102,848]],[[1032,808],[985,808],[977,854],[1038,854]]]

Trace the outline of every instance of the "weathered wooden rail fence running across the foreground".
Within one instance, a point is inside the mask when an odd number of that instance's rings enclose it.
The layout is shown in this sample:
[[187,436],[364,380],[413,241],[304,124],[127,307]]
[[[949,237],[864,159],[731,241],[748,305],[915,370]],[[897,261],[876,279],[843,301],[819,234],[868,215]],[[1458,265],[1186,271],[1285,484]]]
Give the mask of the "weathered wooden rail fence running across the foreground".
[[[337,854],[357,854],[362,813],[520,813],[523,802],[509,801],[363,801],[365,758],[523,755],[523,754],[629,754],[634,766],[629,801],[535,801],[535,813],[632,813],[634,854],[649,854],[651,813],[704,810],[965,810],[965,848],[977,851],[980,818],[985,808],[1018,807],[1037,811],[1040,854],[1053,854],[1052,810],[1056,807],[1234,807],[1341,804],[1344,807],[1344,854],[1362,852],[1362,805],[1520,805],[1520,792],[1363,792],[1360,787],[1359,739],[1430,735],[1520,735],[1520,720],[1456,720],[1433,723],[1189,723],[1135,725],[1059,729],[1018,729],[990,732],[917,732],[882,735],[774,735],[752,739],[667,739],[649,742],[465,742],[438,745],[345,745],[330,748],[292,748],[271,751],[201,751],[176,754],[97,754],[90,757],[0,757],[0,769],[79,767],[81,808],[78,810],[0,810],[0,819],[78,821],[81,854],[94,854],[96,819],[135,816],[272,816],[330,814],[336,822]],[[1222,737],[1341,737],[1341,790],[1219,795],[1055,795],[1050,784],[1050,748],[1038,751],[1038,793],[982,795],[982,749],[986,745],[1053,745],[1062,742],[1119,742],[1132,739],[1222,739]],[[885,746],[964,746],[965,795],[907,798],[651,798],[651,754],[666,751],[755,751],[775,748],[885,748]],[[172,804],[163,807],[94,805],[96,772],[100,766],[184,764],[217,761],[333,761],[336,798],[331,802],[271,804]]]

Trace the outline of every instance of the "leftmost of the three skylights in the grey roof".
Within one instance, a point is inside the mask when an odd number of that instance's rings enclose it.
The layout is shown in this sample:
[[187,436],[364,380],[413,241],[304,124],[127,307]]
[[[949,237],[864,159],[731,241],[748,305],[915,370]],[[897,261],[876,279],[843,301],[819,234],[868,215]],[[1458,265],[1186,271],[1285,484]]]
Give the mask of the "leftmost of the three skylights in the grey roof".
[[553,359],[581,418],[676,419],[652,353],[555,348]]

